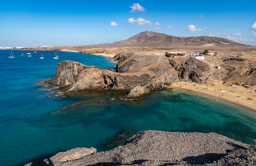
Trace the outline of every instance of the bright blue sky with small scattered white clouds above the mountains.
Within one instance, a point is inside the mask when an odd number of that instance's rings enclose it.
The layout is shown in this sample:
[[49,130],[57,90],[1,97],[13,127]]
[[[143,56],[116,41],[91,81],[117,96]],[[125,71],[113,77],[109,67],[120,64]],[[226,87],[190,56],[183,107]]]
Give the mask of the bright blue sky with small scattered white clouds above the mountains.
[[112,43],[150,30],[256,46],[256,1],[5,1],[0,46]]

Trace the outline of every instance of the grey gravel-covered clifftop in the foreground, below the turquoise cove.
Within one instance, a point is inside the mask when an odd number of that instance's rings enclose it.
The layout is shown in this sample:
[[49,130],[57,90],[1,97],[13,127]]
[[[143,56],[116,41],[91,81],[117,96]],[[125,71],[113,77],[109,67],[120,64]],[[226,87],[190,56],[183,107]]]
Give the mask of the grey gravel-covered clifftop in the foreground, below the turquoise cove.
[[113,150],[97,153],[87,150],[88,155],[77,159],[69,158],[73,154],[70,150],[67,152],[68,157],[65,156],[65,152],[60,152],[26,166],[256,165],[255,145],[244,144],[216,133],[142,131],[127,139],[123,146]]

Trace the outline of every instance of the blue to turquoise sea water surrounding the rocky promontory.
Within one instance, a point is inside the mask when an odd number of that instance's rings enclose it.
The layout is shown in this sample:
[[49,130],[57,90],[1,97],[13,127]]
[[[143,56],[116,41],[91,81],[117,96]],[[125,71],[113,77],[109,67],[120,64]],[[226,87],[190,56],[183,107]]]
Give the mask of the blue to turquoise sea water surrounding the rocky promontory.
[[[243,143],[256,139],[256,113],[179,89],[124,100],[125,91],[54,96],[35,84],[52,78],[57,64],[71,60],[114,70],[103,56],[74,52],[0,50],[0,165],[24,165],[76,147],[113,149],[144,130],[215,132]],[[40,59],[41,54],[44,59]],[[138,103],[139,102],[139,103]]]

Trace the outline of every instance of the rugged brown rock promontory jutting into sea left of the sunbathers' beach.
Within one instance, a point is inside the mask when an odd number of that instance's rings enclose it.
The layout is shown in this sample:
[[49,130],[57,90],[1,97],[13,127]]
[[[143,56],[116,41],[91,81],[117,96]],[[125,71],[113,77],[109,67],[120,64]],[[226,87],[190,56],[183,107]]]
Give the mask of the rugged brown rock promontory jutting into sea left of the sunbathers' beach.
[[110,88],[129,90],[128,96],[138,96],[151,90],[162,89],[164,85],[182,80],[202,83],[206,81],[211,68],[194,57],[168,58],[163,55],[133,55],[121,53],[116,72],[78,62],[63,61],[58,64],[56,75],[43,81],[65,87],[65,91]]

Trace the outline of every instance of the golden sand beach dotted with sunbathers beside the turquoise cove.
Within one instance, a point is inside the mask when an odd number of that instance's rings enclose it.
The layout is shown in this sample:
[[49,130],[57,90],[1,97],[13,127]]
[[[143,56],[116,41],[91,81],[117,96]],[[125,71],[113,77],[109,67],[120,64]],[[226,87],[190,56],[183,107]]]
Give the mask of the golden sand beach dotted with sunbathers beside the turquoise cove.
[[[195,85],[195,86],[193,86]],[[181,86],[181,87],[180,87]],[[179,88],[188,90],[191,92],[196,92],[202,95],[206,95],[209,97],[216,98],[216,100],[228,101],[247,109],[250,109],[256,112],[256,95],[255,91],[250,89],[246,89],[242,86],[232,85],[232,86],[224,86],[224,85],[208,85],[208,84],[198,84],[195,82],[175,82],[173,85],[166,86],[167,88]],[[236,89],[234,89],[236,87]],[[216,91],[215,91],[216,89]],[[220,89],[222,91],[220,91]],[[234,92],[231,92],[234,91]],[[252,92],[252,93],[250,93]],[[223,94],[223,96],[222,96]],[[237,97],[240,96],[240,97]],[[248,98],[252,98],[253,100],[248,100]]]

